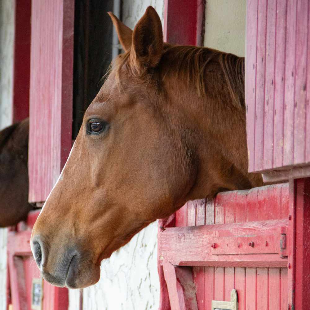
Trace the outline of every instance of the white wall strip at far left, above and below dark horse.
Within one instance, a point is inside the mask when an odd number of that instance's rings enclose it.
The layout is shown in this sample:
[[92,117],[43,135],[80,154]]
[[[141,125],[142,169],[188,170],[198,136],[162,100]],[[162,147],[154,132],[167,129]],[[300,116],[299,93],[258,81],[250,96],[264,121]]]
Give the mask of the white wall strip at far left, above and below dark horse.
[[[0,0],[0,130],[12,123],[14,24],[15,1]],[[0,310],[6,309],[6,281],[7,229],[0,228]]]

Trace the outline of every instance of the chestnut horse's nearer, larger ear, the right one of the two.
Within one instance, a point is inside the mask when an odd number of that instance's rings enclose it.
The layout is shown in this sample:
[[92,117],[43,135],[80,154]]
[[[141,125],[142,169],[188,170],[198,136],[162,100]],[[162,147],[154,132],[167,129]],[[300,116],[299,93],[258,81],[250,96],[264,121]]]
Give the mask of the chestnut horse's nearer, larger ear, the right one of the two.
[[135,25],[131,57],[138,66],[154,68],[162,56],[164,41],[162,23],[153,7],[148,7]]

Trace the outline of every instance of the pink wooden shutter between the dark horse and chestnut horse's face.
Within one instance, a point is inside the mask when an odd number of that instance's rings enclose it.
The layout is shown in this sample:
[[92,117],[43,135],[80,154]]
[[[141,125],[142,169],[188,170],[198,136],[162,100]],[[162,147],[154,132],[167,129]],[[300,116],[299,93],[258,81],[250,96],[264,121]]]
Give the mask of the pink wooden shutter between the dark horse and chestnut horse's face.
[[32,1],[29,201],[44,201],[72,141],[74,1]]

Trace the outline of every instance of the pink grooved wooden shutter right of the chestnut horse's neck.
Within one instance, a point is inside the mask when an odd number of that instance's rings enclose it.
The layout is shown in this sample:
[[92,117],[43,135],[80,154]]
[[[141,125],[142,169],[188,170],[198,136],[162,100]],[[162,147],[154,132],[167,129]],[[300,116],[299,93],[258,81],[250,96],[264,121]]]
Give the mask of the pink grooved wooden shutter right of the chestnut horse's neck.
[[310,164],[308,25],[307,0],[247,2],[250,172]]

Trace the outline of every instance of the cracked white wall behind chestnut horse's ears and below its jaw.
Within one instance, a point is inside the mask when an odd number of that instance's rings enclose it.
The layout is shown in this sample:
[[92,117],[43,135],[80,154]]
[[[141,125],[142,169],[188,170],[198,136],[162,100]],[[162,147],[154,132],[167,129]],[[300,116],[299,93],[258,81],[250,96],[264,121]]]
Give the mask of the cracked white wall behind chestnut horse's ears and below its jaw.
[[[149,5],[156,9],[163,23],[163,0],[124,0],[123,22],[133,29]],[[70,293],[70,305],[74,304],[74,298],[77,297],[71,298]],[[155,222],[102,262],[100,281],[83,290],[83,310],[147,310],[158,306]]]

